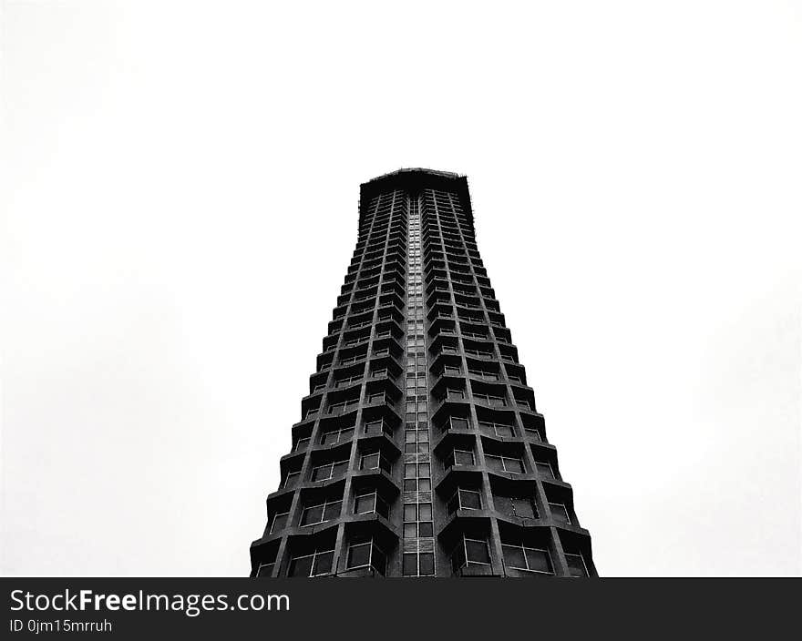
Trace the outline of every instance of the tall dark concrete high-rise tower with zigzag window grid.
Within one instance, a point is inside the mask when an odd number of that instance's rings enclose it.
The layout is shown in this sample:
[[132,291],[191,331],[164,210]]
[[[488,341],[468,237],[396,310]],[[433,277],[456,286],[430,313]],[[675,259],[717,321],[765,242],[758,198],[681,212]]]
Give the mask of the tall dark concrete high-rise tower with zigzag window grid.
[[465,177],[360,188],[256,576],[595,576],[476,243]]

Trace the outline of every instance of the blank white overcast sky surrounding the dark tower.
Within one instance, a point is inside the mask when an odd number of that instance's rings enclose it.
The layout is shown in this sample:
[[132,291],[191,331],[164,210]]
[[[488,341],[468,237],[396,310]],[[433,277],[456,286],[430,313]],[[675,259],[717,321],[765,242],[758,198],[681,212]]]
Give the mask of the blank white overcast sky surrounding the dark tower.
[[800,3],[347,5],[3,3],[3,573],[247,574],[399,167],[468,175],[600,573],[802,572]]

